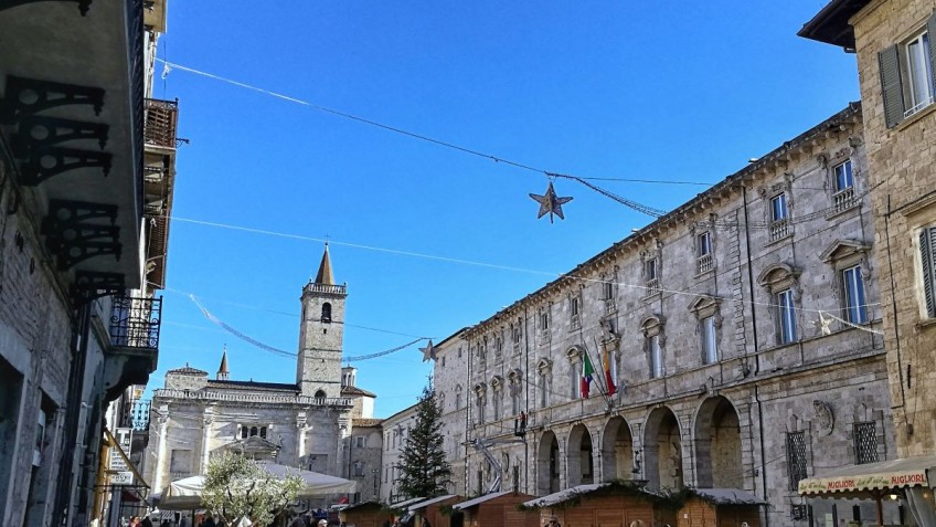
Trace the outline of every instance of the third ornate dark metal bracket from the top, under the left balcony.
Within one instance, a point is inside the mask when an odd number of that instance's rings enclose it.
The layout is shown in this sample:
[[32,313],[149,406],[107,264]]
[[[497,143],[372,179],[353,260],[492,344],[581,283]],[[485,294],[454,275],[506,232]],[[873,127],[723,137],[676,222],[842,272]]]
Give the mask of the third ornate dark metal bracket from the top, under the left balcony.
[[[88,221],[110,220],[110,225]],[[120,260],[123,245],[120,228],[115,226],[117,207],[81,201],[52,200],[49,215],[42,222],[45,245],[56,256],[56,264],[64,271],[78,262],[103,254],[114,254]]]

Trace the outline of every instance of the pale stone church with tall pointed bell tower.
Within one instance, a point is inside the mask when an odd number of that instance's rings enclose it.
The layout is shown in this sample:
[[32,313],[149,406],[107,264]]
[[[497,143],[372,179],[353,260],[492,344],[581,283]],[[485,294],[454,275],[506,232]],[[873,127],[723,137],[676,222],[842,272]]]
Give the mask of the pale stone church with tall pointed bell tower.
[[[232,380],[226,355],[214,379],[188,365],[167,372],[152,397],[152,487],[204,474],[213,454],[232,449],[341,477],[354,477],[355,462],[379,466],[368,453],[380,450],[368,432],[376,396],[354,386],[354,368],[341,368],[345,298],[326,247],[316,280],[302,289],[295,383]],[[365,425],[361,433],[355,421]],[[363,456],[358,438],[372,444]]]

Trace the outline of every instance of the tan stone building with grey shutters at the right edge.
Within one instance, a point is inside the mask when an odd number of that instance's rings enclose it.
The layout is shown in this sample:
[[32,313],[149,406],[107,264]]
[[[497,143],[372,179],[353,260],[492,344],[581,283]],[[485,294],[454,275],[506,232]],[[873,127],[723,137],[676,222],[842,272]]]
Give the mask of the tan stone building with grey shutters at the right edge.
[[858,53],[901,456],[936,453],[936,1],[834,0],[800,35]]

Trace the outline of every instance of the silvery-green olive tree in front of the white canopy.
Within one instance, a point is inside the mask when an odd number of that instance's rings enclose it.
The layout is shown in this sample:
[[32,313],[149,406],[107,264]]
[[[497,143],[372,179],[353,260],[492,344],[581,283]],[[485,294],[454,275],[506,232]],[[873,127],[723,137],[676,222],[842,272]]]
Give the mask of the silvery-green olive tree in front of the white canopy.
[[249,518],[255,525],[269,525],[302,488],[298,475],[279,477],[256,461],[225,452],[208,464],[202,503],[225,523]]

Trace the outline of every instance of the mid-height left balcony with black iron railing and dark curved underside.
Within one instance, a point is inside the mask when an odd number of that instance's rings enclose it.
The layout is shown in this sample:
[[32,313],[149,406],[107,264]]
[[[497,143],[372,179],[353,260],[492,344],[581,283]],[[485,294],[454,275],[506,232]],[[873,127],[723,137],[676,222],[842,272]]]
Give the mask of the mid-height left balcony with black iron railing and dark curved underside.
[[106,354],[107,401],[131,384],[146,384],[156,370],[162,298],[111,297],[110,346]]

